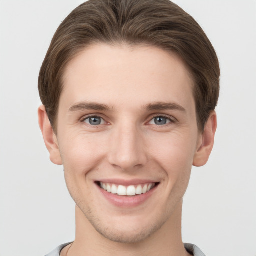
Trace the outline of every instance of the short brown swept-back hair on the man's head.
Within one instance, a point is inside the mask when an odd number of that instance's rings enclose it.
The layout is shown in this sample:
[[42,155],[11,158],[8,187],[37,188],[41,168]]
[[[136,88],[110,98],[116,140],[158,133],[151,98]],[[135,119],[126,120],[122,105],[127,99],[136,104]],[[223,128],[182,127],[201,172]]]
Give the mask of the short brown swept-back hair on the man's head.
[[92,43],[145,44],[176,52],[194,80],[197,125],[203,131],[219,95],[219,64],[199,24],[169,0],[89,0],[56,30],[42,63],[38,88],[53,130],[67,63]]

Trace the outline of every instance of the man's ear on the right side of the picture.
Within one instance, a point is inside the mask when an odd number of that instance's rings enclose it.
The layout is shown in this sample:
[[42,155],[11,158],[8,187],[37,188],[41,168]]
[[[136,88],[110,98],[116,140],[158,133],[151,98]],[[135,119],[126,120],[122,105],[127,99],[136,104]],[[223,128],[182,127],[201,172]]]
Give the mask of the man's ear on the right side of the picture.
[[217,115],[215,111],[212,111],[204,125],[203,133],[199,135],[197,150],[193,158],[194,166],[203,166],[208,161],[214,144],[216,128]]

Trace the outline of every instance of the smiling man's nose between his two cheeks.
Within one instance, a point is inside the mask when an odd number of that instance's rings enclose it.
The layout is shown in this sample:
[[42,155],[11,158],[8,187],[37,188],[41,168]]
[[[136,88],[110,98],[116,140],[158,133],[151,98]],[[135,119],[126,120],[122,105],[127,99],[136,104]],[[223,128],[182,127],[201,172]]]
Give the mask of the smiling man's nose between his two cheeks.
[[115,127],[110,140],[108,161],[114,167],[132,171],[144,166],[147,162],[143,135],[134,124]]

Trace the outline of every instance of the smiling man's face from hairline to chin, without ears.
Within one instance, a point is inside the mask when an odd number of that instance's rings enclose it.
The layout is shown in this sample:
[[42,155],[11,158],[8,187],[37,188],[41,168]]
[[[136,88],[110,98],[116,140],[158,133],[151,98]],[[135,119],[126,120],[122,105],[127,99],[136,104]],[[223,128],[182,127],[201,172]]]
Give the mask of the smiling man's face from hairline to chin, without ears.
[[201,141],[192,89],[155,47],[97,44],[68,64],[56,141],[72,198],[106,238],[143,240],[182,201]]

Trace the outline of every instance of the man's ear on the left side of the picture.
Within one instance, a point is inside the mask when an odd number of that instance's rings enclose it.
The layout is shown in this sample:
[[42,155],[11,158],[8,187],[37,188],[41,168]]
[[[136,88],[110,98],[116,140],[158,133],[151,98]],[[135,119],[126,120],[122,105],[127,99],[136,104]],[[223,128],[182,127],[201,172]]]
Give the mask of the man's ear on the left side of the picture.
[[50,160],[55,164],[62,164],[57,137],[51,127],[44,105],[38,108],[39,126],[42,132],[44,143],[50,153]]

